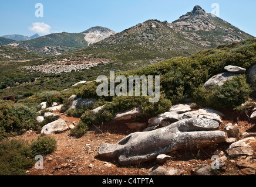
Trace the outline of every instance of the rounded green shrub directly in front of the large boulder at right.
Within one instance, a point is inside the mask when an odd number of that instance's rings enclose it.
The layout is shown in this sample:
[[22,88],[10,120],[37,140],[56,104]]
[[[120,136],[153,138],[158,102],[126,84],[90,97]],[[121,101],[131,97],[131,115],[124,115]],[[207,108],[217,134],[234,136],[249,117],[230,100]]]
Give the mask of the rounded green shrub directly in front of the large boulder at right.
[[250,85],[244,75],[239,75],[224,83],[213,85],[211,88],[198,88],[194,92],[194,101],[202,106],[214,108],[235,108],[247,101],[250,96]]

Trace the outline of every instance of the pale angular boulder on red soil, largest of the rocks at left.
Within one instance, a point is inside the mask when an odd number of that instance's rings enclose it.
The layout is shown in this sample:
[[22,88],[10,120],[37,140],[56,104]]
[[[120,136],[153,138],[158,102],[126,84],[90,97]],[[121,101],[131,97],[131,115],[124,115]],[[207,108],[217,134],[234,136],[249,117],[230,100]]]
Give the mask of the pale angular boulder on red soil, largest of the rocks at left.
[[68,130],[68,124],[66,124],[65,120],[58,119],[52,123],[48,123],[45,126],[42,127],[41,135],[42,134],[53,134],[53,133],[59,133],[61,131]]

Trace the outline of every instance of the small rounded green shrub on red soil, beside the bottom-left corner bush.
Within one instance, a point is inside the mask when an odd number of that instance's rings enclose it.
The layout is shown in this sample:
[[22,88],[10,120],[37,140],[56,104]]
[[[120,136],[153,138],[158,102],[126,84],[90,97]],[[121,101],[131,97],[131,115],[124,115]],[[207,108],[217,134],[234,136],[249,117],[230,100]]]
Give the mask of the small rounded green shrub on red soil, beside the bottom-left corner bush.
[[31,143],[31,154],[45,156],[56,150],[57,141],[51,137],[41,137]]

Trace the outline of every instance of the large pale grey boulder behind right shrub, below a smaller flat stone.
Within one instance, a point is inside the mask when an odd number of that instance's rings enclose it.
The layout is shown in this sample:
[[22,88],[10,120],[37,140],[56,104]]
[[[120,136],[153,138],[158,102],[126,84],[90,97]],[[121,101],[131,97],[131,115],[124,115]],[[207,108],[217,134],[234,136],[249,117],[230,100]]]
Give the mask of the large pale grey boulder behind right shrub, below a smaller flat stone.
[[225,81],[232,79],[234,76],[237,76],[240,74],[234,74],[232,72],[223,72],[221,74],[214,75],[208,81],[204,84],[204,87],[209,87],[214,84],[217,84],[219,86],[223,85]]

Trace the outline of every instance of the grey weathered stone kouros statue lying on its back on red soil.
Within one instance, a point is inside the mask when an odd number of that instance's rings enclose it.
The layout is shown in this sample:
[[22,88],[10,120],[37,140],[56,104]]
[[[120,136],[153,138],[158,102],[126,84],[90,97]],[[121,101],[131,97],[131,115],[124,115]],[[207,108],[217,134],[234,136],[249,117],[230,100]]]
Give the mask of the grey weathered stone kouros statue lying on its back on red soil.
[[225,132],[217,130],[220,123],[214,119],[182,119],[153,131],[129,134],[116,144],[98,148],[100,157],[118,158],[119,163],[137,164],[153,160],[159,154],[177,150],[193,150],[225,142]]

